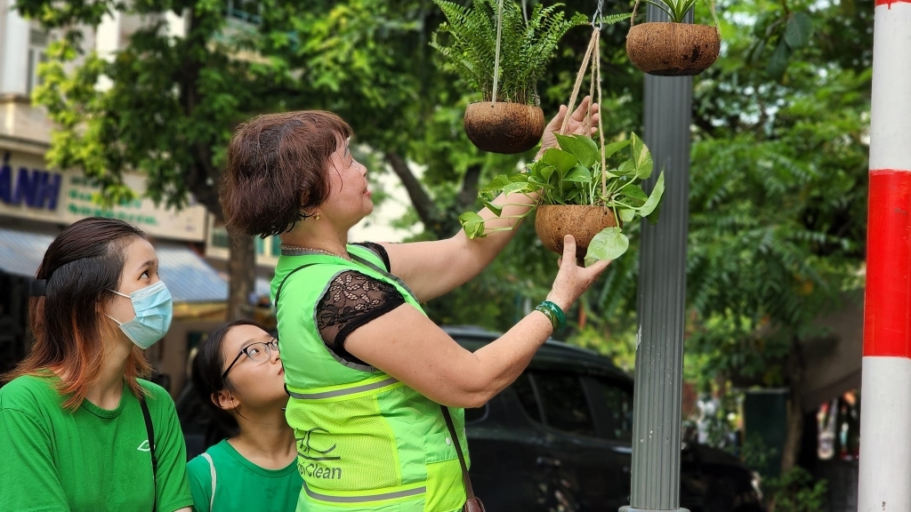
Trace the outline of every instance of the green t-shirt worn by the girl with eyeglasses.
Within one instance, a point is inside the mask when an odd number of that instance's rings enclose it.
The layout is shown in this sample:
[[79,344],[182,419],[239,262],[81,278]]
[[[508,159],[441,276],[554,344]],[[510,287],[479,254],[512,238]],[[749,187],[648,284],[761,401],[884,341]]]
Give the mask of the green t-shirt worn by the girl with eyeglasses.
[[211,446],[206,454],[215,466],[215,499],[212,499],[212,466],[204,456],[187,464],[189,488],[196,512],[293,511],[303,480],[292,462],[281,469],[265,469],[245,459],[228,443]]

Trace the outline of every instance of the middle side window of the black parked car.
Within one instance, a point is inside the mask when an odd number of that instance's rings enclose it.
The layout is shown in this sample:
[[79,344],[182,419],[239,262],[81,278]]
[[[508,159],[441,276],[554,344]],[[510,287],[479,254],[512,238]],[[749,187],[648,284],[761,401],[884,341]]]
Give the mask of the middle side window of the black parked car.
[[532,378],[546,425],[571,434],[595,435],[589,403],[577,374],[533,372]]

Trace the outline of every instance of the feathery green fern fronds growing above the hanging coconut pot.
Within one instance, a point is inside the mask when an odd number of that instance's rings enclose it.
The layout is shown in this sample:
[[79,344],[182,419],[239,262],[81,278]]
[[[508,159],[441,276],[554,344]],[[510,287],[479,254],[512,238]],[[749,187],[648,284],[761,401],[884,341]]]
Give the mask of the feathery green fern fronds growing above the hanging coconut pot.
[[[475,0],[472,8],[445,0],[435,3],[447,21],[434,33],[430,45],[446,57],[444,69],[463,77],[483,95],[484,101],[493,100],[497,0]],[[504,1],[497,101],[534,106],[540,103],[537,80],[554,56],[560,38],[570,28],[589,23],[585,15],[578,13],[567,19],[558,11],[559,6],[562,4],[536,5],[526,23],[521,7]]]

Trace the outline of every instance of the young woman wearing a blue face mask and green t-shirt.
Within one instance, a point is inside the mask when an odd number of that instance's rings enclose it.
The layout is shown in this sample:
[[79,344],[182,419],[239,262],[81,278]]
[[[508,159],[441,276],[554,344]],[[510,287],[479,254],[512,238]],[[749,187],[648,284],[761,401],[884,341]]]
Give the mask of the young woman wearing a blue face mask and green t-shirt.
[[0,510],[189,511],[174,403],[139,377],[171,323],[141,230],[90,218],[38,267],[35,344],[0,388]]

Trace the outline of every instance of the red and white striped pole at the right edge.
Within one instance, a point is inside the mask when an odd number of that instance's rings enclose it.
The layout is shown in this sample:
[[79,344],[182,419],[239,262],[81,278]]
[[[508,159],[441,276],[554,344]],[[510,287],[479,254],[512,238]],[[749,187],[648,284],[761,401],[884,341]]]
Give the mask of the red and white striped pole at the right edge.
[[911,0],[876,0],[858,512],[911,512]]

